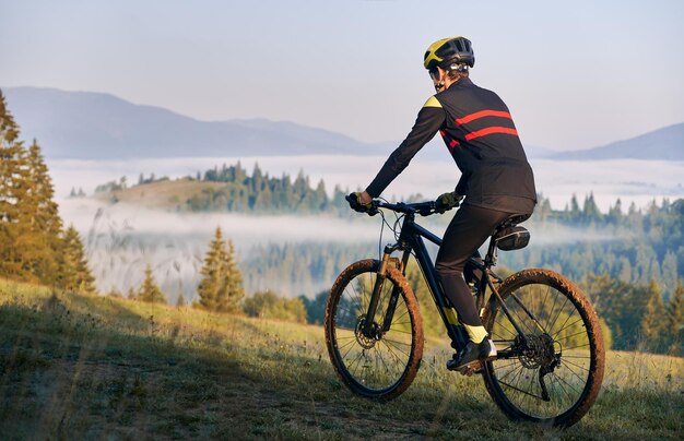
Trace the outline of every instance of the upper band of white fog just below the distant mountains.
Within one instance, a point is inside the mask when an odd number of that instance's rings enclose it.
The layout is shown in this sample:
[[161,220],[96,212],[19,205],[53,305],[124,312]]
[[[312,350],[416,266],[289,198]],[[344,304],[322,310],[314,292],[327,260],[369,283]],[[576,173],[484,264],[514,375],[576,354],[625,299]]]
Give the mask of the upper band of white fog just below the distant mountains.
[[[444,160],[434,159],[434,152],[420,152],[411,165],[388,187],[385,196],[402,196],[421,193],[436,198],[453,188],[460,176],[452,159],[445,153]],[[203,174],[222,164],[234,165],[240,160],[251,174],[255,164],[270,176],[288,174],[293,178],[302,170],[310,177],[311,186],[320,179],[332,192],[334,186],[356,190],[365,188],[385,163],[386,157],[350,156],[270,156],[221,158],[165,158],[134,160],[49,160],[50,175],[55,181],[58,199],[69,194],[72,188],[91,194],[95,187],[126,176],[129,183],[138,182],[140,174],[149,177],[177,178]],[[684,162],[665,160],[552,160],[532,159],[538,191],[551,200],[555,210],[562,210],[576,194],[580,204],[585,195],[594,194],[602,211],[620,198],[623,206],[634,202],[646,207],[653,199],[684,198]]]

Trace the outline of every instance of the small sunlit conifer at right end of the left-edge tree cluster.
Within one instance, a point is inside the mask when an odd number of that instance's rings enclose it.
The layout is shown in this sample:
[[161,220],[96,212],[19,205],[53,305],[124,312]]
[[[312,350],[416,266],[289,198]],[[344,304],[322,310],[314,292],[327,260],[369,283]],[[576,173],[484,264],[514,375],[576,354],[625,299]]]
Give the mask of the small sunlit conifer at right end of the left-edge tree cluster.
[[95,293],[94,282],[79,231],[70,225],[64,233],[63,249],[59,258],[58,285],[67,290],[92,294]]

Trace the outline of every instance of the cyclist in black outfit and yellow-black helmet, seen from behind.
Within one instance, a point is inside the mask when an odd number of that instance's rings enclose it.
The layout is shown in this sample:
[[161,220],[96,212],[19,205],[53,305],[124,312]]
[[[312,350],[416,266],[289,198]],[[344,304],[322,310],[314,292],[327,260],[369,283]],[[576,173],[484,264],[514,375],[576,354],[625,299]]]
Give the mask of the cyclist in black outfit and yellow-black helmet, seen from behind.
[[389,156],[357,201],[370,206],[413,156],[439,132],[461,178],[456,191],[437,200],[441,208],[458,205],[444,235],[435,269],[439,283],[456,308],[469,342],[447,362],[449,370],[467,372],[481,361],[496,358],[463,278],[467,260],[477,252],[494,229],[511,215],[531,215],[536,204],[534,178],[518,132],[504,102],[469,79],[475,63],[471,41],[462,36],[433,43],[423,65],[436,94],[418,111],[413,129]]

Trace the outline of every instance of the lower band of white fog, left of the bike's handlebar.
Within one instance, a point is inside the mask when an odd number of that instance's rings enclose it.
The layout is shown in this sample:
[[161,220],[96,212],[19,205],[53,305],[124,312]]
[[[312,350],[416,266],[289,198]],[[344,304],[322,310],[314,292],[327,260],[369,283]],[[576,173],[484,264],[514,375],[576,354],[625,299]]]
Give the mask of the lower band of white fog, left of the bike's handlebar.
[[[243,272],[256,246],[320,241],[376,243],[380,224],[366,216],[353,222],[334,216],[246,216],[232,213],[175,213],[110,204],[92,199],[67,199],[60,214],[81,234],[86,258],[101,293],[127,294],[138,288],[146,264],[169,299],[192,298],[200,269],[216,227],[235,246]],[[377,219],[377,218],[375,218]],[[387,240],[390,236],[386,235]],[[358,259],[366,255],[358,255]],[[351,263],[351,262],[350,262]],[[315,289],[330,285],[318,281]],[[248,293],[255,288],[246,284]],[[286,285],[286,286],[283,286]],[[287,294],[300,294],[288,282],[259,283]],[[311,294],[311,293],[308,293]]]

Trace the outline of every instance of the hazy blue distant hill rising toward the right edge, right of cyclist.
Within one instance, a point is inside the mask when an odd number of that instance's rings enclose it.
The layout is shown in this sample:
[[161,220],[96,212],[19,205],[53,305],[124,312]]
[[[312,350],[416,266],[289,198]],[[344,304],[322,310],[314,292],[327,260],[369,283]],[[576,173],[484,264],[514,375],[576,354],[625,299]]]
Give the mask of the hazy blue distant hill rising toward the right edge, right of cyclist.
[[552,158],[684,160],[684,122],[600,147],[558,153]]

